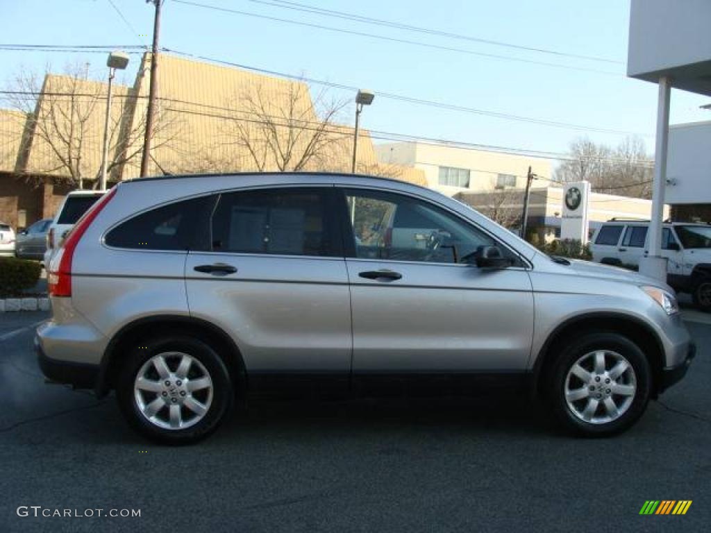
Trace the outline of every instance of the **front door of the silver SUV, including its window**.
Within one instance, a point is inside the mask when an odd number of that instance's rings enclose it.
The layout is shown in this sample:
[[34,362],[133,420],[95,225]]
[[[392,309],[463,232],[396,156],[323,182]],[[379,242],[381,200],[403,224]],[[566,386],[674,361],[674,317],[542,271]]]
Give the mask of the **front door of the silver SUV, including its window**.
[[342,205],[356,377],[525,370],[534,310],[522,259],[504,247],[517,266],[467,262],[500,243],[421,198],[350,188]]

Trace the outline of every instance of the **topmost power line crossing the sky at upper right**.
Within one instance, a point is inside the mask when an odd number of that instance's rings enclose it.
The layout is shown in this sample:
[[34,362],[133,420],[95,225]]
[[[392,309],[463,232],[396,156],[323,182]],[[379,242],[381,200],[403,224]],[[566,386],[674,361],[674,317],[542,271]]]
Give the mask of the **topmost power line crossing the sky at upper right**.
[[515,50],[525,50],[528,52],[545,53],[545,54],[557,55],[557,56],[565,57],[565,58],[584,59],[584,60],[589,60],[589,61],[599,61],[602,63],[613,63],[616,65],[624,65],[624,61],[619,61],[619,60],[614,60],[614,59],[609,59],[609,58],[601,58],[599,56],[594,56],[594,55],[581,55],[581,54],[560,52],[560,50],[550,50],[547,48],[536,48],[533,46],[517,45],[517,44],[513,44],[513,43],[506,43],[504,41],[492,41],[491,39],[484,39],[484,38],[480,38],[480,37],[467,36],[467,35],[462,35],[461,33],[453,33],[450,31],[442,31],[442,30],[437,30],[437,29],[433,29],[433,28],[424,28],[422,26],[411,26],[410,24],[400,23],[400,22],[396,22],[396,21],[386,21],[382,18],[373,18],[373,17],[362,16],[362,15],[357,15],[357,14],[353,14],[353,13],[346,13],[344,11],[336,11],[333,9],[324,9],[324,8],[312,6],[309,4],[299,4],[298,2],[284,1],[284,0],[274,0],[274,1],[247,0],[247,1],[252,2],[252,4],[263,4],[266,6],[274,6],[274,7],[278,7],[281,9],[291,9],[293,11],[301,11],[304,13],[313,13],[313,14],[318,14],[318,15],[323,15],[323,16],[330,16],[333,18],[341,18],[341,19],[345,19],[348,21],[374,24],[376,26],[387,26],[389,28],[397,28],[400,30],[413,31],[413,32],[417,32],[417,33],[427,33],[428,35],[447,37],[447,38],[452,38],[452,39],[459,39],[461,41],[471,41],[474,43],[483,43],[483,44],[488,44],[488,45],[503,46],[505,48],[513,48]]

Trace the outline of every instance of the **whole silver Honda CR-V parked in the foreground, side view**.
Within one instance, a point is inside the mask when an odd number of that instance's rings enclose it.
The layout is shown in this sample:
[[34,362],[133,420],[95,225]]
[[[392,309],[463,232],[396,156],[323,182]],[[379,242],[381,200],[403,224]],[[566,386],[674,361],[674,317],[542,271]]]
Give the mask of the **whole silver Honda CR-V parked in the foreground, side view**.
[[665,284],[547,257],[461,203],[336,174],[141,179],[99,200],[49,274],[45,375],[114,389],[167,442],[235,398],[528,385],[564,426],[629,428],[693,343]]

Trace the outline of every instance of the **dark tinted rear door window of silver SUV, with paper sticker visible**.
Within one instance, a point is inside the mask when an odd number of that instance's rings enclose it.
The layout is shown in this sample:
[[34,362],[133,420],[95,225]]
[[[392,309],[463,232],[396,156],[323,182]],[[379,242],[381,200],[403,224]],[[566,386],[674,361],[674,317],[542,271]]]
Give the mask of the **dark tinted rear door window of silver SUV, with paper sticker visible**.
[[214,252],[333,255],[324,189],[270,189],[220,196],[213,216]]

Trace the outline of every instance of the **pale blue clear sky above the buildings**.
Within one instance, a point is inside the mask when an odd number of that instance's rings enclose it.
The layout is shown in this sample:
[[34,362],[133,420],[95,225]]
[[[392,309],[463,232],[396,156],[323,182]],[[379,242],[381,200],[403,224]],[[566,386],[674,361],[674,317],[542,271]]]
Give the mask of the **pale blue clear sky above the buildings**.
[[[161,46],[373,90],[375,100],[361,115],[365,129],[556,154],[565,153],[579,137],[616,146],[626,135],[636,135],[653,151],[657,86],[624,74],[628,0],[191,2],[165,0]],[[284,9],[284,5],[316,6],[426,32]],[[152,4],[144,0],[0,0],[0,45],[149,45],[153,13]],[[0,86],[10,87],[20,70],[41,74],[48,65],[61,71],[68,64],[90,63],[90,77],[105,78],[106,55],[0,50]],[[132,55],[124,82],[132,83],[138,63],[139,55]],[[311,87],[312,94],[324,89]],[[442,109],[378,97],[378,93],[566,125]],[[327,94],[336,99],[355,97],[353,90],[331,89]],[[671,102],[673,124],[711,120],[710,111],[699,109],[710,103],[706,97],[673,90]],[[6,104],[0,95],[0,107]],[[341,122],[353,124],[354,109],[353,104],[346,107]]]

